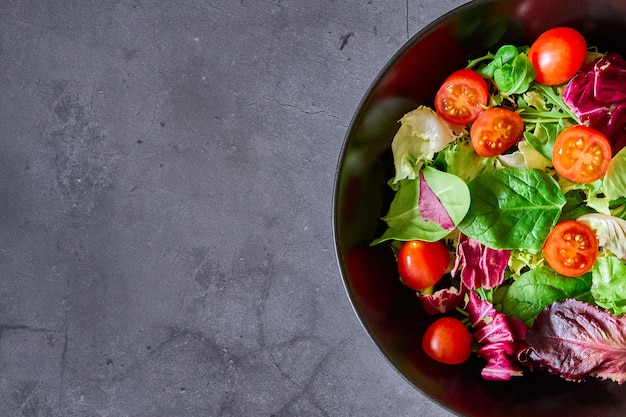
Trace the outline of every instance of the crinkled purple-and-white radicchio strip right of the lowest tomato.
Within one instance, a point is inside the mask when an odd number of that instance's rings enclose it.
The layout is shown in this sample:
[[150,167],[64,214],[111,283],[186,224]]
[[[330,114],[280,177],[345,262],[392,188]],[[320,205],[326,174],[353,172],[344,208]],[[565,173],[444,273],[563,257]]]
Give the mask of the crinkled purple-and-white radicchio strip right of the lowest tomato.
[[512,331],[507,317],[471,290],[467,312],[475,330],[472,336],[480,344],[476,353],[487,361],[481,371],[482,377],[490,381],[508,381],[513,376],[521,376],[517,357],[527,346],[515,336],[525,334],[525,325],[515,322],[515,331]]

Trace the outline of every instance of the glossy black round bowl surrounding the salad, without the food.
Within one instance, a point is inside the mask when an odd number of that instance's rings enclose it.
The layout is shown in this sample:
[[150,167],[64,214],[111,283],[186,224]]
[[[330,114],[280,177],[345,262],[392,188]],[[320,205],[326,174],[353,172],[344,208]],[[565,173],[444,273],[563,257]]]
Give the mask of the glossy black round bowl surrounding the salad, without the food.
[[380,218],[391,201],[391,140],[397,121],[420,104],[432,106],[443,79],[472,57],[502,44],[529,45],[544,30],[570,26],[589,45],[626,56],[626,0],[484,0],[444,15],[391,59],[358,107],[347,133],[335,184],[338,262],[354,310],[376,346],[409,383],[458,415],[624,417],[626,384],[582,383],[536,372],[509,382],[480,376],[478,358],[439,364],[422,352],[432,318],[399,283]]

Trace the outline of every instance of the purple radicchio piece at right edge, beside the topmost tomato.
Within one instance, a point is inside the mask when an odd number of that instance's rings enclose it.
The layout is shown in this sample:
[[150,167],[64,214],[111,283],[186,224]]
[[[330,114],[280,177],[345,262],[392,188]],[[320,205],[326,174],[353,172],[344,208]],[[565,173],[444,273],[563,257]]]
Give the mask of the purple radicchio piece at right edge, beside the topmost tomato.
[[578,119],[611,141],[613,153],[626,146],[626,61],[616,53],[584,65],[563,91]]

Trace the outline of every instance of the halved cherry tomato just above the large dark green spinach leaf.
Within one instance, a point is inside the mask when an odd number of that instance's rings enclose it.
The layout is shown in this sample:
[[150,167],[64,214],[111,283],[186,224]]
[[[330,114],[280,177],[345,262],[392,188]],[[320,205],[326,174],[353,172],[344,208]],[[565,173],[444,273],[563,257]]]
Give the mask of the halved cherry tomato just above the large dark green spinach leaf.
[[502,107],[485,110],[474,122],[470,138],[476,153],[491,157],[513,146],[524,132],[521,116]]

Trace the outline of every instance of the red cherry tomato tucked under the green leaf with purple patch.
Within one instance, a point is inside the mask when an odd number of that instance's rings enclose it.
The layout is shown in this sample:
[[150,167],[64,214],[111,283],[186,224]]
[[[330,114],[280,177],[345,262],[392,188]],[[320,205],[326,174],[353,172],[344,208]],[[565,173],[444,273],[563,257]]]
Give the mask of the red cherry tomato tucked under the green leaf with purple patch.
[[416,291],[435,285],[450,265],[450,253],[442,242],[411,240],[398,252],[398,272],[404,284]]

